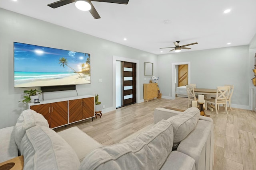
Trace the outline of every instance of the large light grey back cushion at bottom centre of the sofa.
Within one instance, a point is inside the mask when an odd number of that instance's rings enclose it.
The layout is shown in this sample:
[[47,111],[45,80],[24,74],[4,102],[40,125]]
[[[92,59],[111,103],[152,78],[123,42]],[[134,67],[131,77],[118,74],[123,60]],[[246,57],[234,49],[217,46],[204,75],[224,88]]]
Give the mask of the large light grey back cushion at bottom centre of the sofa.
[[162,120],[134,140],[93,150],[84,158],[79,169],[160,169],[172,151],[172,144],[172,125]]

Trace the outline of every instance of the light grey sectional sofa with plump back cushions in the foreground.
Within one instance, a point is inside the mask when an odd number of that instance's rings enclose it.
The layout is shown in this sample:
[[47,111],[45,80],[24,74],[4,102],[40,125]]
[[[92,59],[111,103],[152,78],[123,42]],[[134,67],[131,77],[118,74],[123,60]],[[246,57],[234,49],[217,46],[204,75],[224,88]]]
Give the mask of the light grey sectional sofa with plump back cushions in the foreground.
[[56,133],[33,110],[15,127],[0,129],[0,162],[19,154],[24,170],[212,170],[213,122],[191,107],[184,112],[156,108],[155,125],[122,142],[102,146],[71,127]]

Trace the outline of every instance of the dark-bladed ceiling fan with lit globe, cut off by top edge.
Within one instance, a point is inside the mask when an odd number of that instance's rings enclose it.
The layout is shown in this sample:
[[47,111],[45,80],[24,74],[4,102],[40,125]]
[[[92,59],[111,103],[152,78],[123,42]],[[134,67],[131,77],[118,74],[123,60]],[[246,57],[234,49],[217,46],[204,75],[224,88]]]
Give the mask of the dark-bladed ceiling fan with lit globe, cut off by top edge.
[[52,4],[48,4],[48,6],[52,8],[58,8],[60,6],[64,6],[66,4],[70,4],[75,2],[76,8],[82,11],[90,11],[94,19],[99,19],[100,15],[92,5],[91,1],[97,2],[111,2],[116,4],[128,4],[129,0],[59,0],[57,2],[53,2]]

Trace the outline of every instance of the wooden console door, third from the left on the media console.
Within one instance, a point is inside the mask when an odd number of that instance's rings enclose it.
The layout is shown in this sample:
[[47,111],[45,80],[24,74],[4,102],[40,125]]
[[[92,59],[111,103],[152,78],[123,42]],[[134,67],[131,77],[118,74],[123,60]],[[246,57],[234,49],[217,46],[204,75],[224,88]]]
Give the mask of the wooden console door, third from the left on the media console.
[[83,119],[83,100],[69,100],[68,101],[68,118],[69,123]]

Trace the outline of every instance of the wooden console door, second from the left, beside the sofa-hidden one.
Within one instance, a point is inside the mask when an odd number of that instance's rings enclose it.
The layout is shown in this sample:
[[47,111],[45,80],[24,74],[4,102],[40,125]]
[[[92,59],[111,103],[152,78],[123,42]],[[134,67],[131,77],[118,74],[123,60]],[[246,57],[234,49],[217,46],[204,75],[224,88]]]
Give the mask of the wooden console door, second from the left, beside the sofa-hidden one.
[[68,124],[68,101],[51,104],[51,128]]

